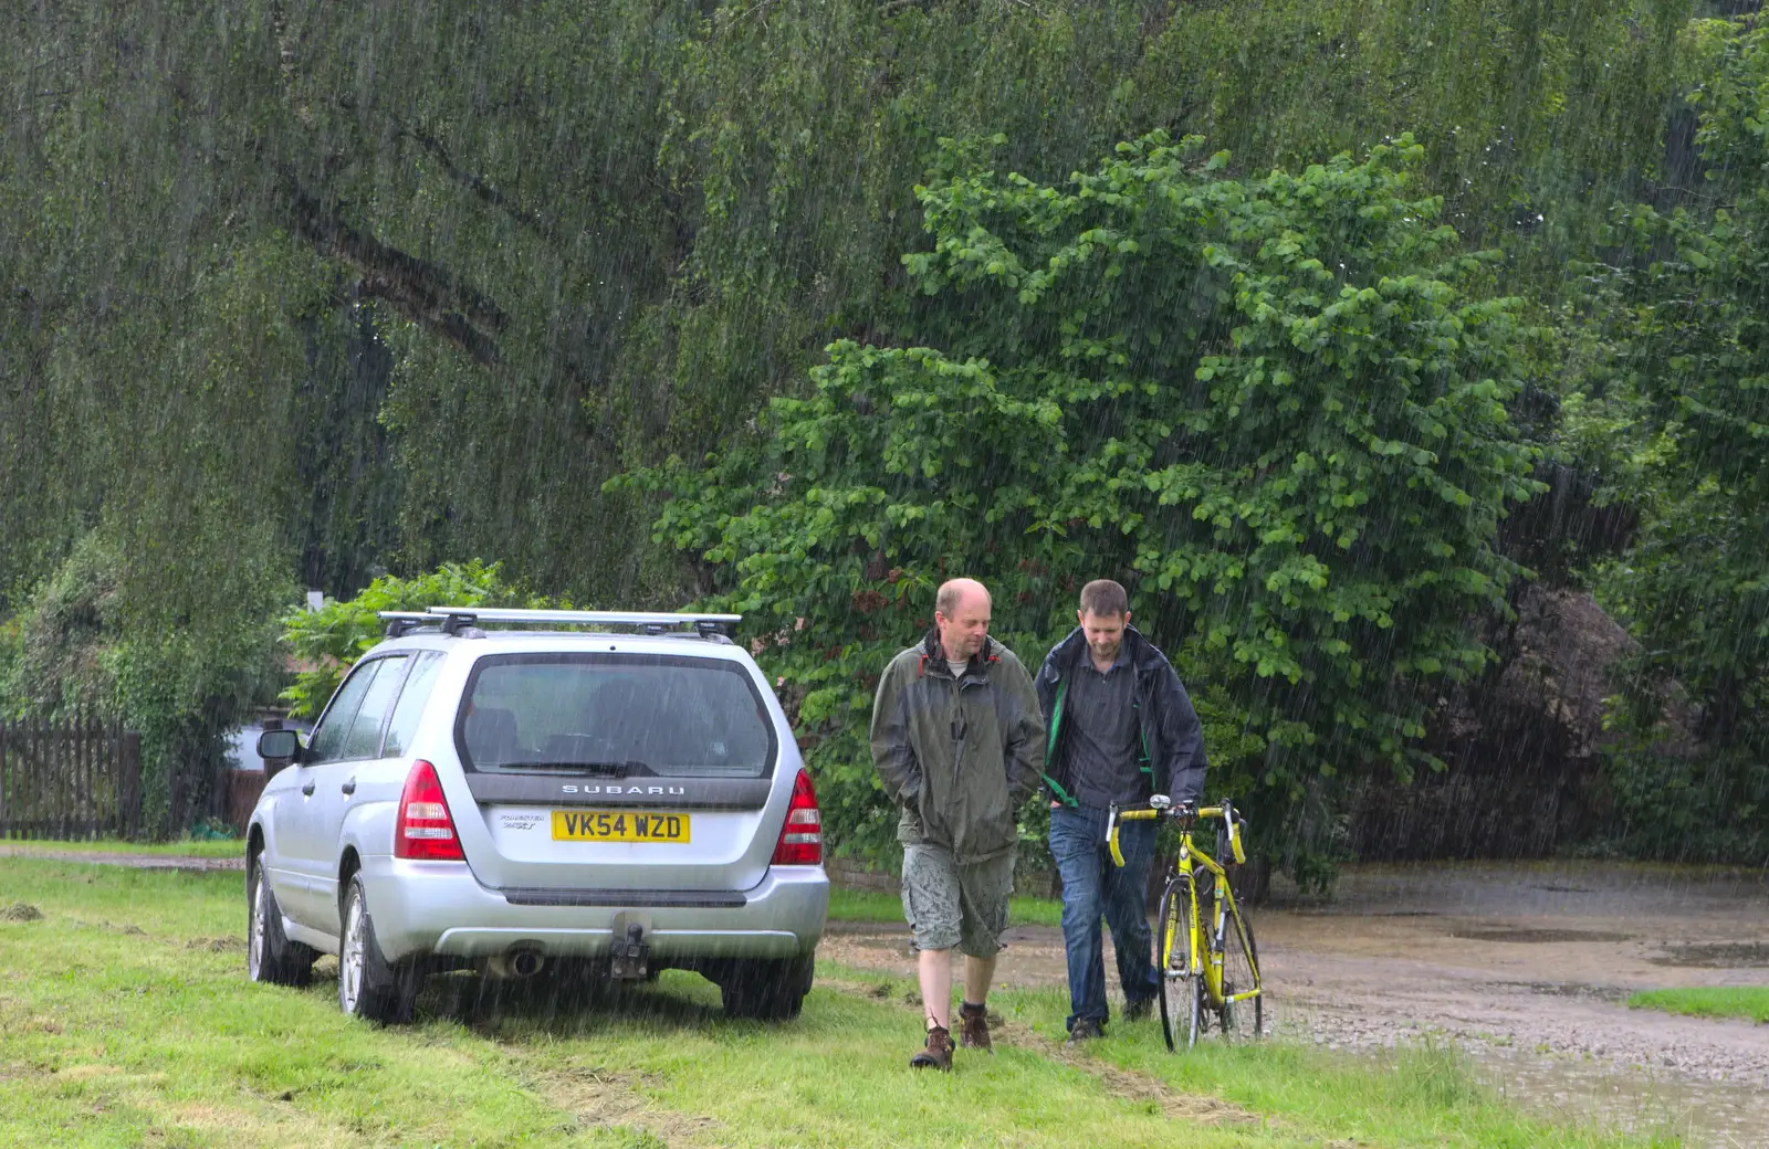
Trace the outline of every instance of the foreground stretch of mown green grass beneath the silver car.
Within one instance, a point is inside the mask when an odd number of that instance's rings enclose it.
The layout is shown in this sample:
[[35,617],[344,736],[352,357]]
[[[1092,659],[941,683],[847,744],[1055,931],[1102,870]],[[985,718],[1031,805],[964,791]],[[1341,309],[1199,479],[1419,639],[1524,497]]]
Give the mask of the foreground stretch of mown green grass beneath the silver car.
[[[692,974],[582,1001],[435,978],[419,1020],[345,1020],[334,983],[244,978],[235,873],[0,857],[0,1145],[1629,1145],[1530,1122],[1442,1050],[1279,1041],[1083,1054],[1054,992],[1003,992],[994,1057],[916,1075],[911,986],[819,967],[791,1025],[729,1022]],[[331,960],[320,972],[331,972]]]

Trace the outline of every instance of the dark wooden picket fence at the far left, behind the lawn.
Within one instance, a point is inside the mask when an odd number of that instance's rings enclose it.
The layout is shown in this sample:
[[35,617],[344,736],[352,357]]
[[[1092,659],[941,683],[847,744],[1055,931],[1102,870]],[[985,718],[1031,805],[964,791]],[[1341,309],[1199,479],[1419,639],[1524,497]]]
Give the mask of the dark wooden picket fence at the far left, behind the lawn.
[[142,735],[119,723],[0,723],[0,838],[138,838]]

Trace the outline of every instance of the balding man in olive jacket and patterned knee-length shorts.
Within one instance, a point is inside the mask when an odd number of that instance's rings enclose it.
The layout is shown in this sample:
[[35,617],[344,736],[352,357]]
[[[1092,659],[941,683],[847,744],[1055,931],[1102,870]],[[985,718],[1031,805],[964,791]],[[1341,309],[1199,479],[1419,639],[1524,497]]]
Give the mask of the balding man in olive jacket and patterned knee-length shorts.
[[897,804],[902,910],[920,951],[927,1041],[916,1069],[952,1069],[952,951],[964,953],[961,1043],[991,1050],[989,981],[1014,889],[1019,808],[1037,788],[1044,719],[1031,675],[989,638],[989,590],[955,578],[934,626],[892,659],[872,704],[872,760]]

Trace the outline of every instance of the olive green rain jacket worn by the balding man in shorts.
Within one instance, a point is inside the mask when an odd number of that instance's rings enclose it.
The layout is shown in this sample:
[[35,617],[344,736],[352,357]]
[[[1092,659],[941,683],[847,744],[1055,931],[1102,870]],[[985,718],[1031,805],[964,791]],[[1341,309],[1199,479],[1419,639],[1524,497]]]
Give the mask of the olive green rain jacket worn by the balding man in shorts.
[[1044,764],[1031,675],[989,638],[955,679],[930,629],[879,679],[872,762],[902,811],[899,841],[946,847],[959,863],[1007,854]]

